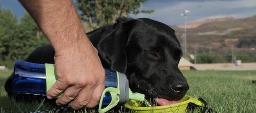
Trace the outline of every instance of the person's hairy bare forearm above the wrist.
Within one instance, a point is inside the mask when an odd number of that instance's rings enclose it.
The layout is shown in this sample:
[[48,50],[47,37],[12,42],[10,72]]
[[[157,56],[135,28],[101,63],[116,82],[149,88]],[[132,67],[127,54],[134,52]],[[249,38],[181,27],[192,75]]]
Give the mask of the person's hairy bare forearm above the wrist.
[[69,0],[19,0],[27,9],[55,51],[83,42],[90,45],[83,26]]

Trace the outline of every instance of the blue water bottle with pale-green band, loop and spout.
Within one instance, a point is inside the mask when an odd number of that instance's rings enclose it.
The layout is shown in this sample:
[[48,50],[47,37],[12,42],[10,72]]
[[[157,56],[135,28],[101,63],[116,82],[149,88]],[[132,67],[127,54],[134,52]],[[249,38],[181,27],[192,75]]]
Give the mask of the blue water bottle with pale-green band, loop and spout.
[[[12,92],[45,96],[56,79],[54,64],[16,61]],[[130,99],[144,101],[144,95],[130,90],[129,81],[123,73],[105,69],[105,90],[100,98],[99,112],[106,112],[118,103],[124,103]]]

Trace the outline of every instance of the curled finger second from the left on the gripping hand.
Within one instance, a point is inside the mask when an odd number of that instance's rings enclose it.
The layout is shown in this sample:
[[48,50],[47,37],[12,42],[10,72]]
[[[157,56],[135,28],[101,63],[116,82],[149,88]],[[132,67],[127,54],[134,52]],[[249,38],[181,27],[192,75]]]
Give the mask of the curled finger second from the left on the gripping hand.
[[75,86],[71,86],[71,87],[67,88],[64,91],[63,95],[56,100],[56,104],[57,105],[65,105],[65,104],[69,103],[74,98],[76,98],[77,94],[81,91],[81,89],[82,88],[77,88]]

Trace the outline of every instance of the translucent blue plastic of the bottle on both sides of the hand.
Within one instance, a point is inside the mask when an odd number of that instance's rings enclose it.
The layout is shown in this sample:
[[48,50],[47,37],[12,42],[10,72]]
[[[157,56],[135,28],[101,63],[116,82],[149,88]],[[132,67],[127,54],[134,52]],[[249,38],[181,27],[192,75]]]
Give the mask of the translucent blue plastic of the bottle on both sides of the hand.
[[[117,88],[117,72],[105,69],[105,88]],[[33,94],[46,96],[46,70],[45,64],[16,61],[12,92],[19,94]],[[109,92],[105,93],[102,105],[111,102]]]

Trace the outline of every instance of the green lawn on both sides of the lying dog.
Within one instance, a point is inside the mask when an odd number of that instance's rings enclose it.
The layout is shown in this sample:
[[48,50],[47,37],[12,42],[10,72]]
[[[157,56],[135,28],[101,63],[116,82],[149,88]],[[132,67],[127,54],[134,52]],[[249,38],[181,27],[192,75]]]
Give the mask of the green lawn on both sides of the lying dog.
[[[7,97],[4,82],[11,70],[0,71],[0,112],[34,111],[40,102],[16,103]],[[217,112],[255,112],[256,71],[182,71],[190,86],[187,95],[205,99]],[[47,109],[41,105],[40,109]]]

